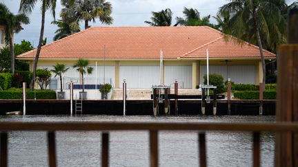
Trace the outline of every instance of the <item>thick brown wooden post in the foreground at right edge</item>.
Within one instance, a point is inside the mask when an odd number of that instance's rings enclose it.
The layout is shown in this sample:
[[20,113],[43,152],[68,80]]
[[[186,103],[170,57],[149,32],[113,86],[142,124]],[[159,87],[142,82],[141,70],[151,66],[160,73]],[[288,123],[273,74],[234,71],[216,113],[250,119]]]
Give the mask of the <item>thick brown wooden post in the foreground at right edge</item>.
[[[288,11],[288,44],[279,46],[277,123],[298,121],[298,9]],[[298,166],[298,134],[277,133],[275,166]]]

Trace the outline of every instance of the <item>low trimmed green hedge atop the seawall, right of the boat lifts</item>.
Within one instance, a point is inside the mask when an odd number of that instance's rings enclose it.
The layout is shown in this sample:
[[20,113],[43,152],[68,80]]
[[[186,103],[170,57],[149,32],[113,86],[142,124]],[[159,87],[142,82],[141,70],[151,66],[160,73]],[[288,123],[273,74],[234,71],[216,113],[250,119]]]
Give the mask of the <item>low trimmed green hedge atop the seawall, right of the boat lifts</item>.
[[[258,100],[259,91],[235,91],[234,97],[245,100]],[[276,91],[264,91],[263,98],[265,100],[275,100]]]

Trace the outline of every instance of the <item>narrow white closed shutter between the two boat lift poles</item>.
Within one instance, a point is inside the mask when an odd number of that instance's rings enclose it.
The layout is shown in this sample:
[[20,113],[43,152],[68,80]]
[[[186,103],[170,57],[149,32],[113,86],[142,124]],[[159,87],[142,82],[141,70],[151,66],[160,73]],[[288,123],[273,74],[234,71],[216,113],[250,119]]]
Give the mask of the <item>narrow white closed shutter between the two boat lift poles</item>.
[[165,85],[171,85],[175,79],[179,81],[179,87],[192,87],[192,67],[188,65],[167,65],[164,67]]

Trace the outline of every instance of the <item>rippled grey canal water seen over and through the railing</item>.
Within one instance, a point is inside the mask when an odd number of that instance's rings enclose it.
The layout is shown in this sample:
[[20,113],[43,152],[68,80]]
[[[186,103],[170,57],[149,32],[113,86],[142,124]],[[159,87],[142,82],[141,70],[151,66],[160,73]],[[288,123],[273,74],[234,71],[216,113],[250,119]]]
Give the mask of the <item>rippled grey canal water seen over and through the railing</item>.
[[[18,122],[274,122],[275,116],[0,116]],[[58,131],[58,166],[100,166],[101,132]],[[9,166],[48,166],[46,132],[9,132]],[[150,166],[148,131],[111,131],[110,166]],[[252,134],[207,132],[208,166],[252,166]],[[159,132],[159,166],[199,166],[197,131]],[[261,133],[261,166],[274,166],[275,134]]]

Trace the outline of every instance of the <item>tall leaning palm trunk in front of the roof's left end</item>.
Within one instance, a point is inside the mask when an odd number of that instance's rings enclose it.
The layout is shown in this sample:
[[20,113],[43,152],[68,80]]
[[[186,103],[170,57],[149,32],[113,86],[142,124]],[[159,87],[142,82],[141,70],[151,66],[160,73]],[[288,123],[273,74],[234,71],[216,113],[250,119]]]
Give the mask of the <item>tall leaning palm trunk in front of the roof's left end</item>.
[[39,35],[39,45],[37,47],[37,54],[35,55],[35,58],[34,58],[33,76],[32,76],[31,87],[30,87],[31,91],[33,91],[33,89],[34,89],[37,63],[38,63],[38,60],[39,60],[39,54],[41,52],[41,43],[43,41],[45,16],[46,16],[46,1],[43,0],[42,11],[41,11],[41,32],[40,32],[40,35]]

